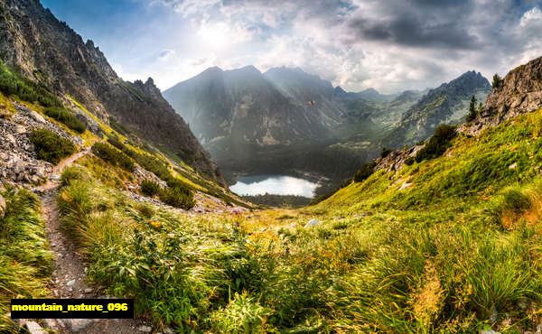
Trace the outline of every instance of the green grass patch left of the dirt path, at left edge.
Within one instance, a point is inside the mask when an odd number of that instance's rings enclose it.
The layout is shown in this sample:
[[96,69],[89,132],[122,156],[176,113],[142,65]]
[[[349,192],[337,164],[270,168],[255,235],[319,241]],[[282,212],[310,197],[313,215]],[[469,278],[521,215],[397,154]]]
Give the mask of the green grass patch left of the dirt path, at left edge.
[[8,188],[0,194],[7,204],[0,218],[0,332],[9,332],[10,299],[49,296],[52,255],[39,199],[27,190]]

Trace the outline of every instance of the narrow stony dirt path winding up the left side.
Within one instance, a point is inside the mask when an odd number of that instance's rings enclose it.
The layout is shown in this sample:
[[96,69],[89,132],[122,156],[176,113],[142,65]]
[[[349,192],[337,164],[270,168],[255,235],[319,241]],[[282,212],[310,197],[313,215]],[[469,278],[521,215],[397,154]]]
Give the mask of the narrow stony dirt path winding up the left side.
[[[72,155],[53,169],[53,173],[60,175],[64,167],[70,166],[81,156],[88,154],[85,151]],[[103,287],[96,287],[87,282],[86,265],[77,248],[61,233],[59,222],[59,209],[56,204],[56,195],[60,181],[58,176],[51,178],[41,187],[42,215],[46,222],[47,237],[54,252],[54,270],[50,281],[50,289],[56,298],[100,298],[104,296]],[[45,327],[57,329],[61,333],[136,333],[150,332],[151,326],[144,320],[44,320]]]

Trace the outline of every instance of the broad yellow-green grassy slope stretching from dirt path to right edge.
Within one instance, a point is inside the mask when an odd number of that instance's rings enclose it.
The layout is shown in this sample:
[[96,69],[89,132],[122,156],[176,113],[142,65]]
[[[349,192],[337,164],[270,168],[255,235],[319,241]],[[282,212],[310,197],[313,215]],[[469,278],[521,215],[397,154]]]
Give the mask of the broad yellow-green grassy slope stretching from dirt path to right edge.
[[[534,329],[541,130],[542,111],[521,116],[456,138],[451,156],[395,177],[377,172],[314,207],[252,217],[178,216],[131,202],[84,170],[66,172],[73,181],[59,202],[89,256],[90,278],[135,297],[157,323],[197,331]],[[397,190],[407,177],[413,186]],[[322,226],[303,228],[311,218]]]

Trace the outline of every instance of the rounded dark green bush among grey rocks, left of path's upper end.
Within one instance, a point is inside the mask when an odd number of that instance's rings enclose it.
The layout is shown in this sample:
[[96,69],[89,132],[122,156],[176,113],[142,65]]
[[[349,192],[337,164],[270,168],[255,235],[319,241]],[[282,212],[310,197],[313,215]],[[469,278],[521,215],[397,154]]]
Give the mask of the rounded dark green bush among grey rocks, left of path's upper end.
[[35,147],[38,159],[52,164],[57,164],[76,152],[75,145],[68,139],[46,129],[33,130],[30,141]]

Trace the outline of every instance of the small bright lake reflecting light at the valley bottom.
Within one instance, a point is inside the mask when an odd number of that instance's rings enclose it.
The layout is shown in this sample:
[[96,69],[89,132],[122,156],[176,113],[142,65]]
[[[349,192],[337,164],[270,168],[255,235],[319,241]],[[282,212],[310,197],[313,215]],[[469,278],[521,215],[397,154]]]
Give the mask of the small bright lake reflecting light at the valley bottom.
[[264,195],[297,195],[312,198],[318,184],[287,175],[253,175],[239,176],[236,184],[229,189],[240,196]]

